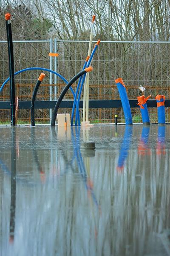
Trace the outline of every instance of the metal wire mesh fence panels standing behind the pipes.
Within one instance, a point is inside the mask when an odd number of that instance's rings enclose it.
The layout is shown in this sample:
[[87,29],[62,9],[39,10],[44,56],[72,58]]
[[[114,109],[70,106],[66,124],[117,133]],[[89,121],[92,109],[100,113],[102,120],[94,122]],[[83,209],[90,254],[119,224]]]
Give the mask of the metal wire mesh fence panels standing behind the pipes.
[[[95,42],[94,42],[95,44]],[[49,52],[58,52],[59,57],[49,57]],[[140,95],[139,85],[146,87],[145,95],[164,94],[170,99],[170,42],[101,42],[94,55],[90,73],[89,99],[119,99],[115,79],[122,77],[127,85],[129,99]],[[26,67],[51,68],[69,80],[78,73],[88,54],[88,41],[17,41],[14,42],[15,71]],[[50,61],[51,58],[51,61]],[[19,100],[30,100],[39,71],[28,71],[15,77],[16,95]],[[8,77],[7,43],[0,42],[0,83]],[[52,84],[52,86],[50,86]],[[74,90],[76,84],[74,85]],[[57,76],[46,73],[38,100],[57,99],[64,83]],[[73,99],[69,91],[65,99]],[[0,100],[9,100],[9,87],[6,86]],[[69,110],[71,111],[71,110]],[[150,110],[150,121],[157,121],[156,109]],[[167,109],[167,118],[168,112]],[[8,120],[9,111],[0,111],[3,121]],[[62,112],[62,110],[61,110]],[[113,122],[114,114],[119,122],[124,122],[122,109],[91,109],[89,118],[92,122]],[[139,108],[133,108],[133,121],[140,122]],[[82,114],[82,113],[80,113]],[[170,115],[169,115],[170,116]],[[19,119],[30,118],[29,111],[20,110]],[[49,121],[48,110],[36,110],[36,119],[40,122]],[[167,121],[170,121],[167,119]]]

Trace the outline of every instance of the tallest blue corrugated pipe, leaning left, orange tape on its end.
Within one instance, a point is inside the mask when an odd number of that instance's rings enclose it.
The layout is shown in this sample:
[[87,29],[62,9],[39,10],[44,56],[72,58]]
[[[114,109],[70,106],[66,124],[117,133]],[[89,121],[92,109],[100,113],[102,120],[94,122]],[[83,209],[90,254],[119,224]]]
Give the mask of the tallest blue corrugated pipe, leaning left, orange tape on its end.
[[125,84],[124,84],[122,78],[116,79],[115,82],[116,82],[117,88],[119,90],[120,99],[122,101],[122,107],[123,107],[123,111],[124,111],[124,115],[125,115],[125,123],[126,123],[126,125],[132,125],[133,124],[132,114],[130,111],[130,104],[129,104],[129,100],[127,98]]

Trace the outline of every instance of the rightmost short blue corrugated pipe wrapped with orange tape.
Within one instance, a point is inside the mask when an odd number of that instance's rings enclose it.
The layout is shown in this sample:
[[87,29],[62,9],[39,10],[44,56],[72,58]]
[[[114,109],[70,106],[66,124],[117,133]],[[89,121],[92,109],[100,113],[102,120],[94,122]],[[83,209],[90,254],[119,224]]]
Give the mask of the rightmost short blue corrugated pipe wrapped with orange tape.
[[157,108],[158,108],[158,123],[165,124],[165,107],[164,107],[165,96],[158,94],[155,99],[156,99]]

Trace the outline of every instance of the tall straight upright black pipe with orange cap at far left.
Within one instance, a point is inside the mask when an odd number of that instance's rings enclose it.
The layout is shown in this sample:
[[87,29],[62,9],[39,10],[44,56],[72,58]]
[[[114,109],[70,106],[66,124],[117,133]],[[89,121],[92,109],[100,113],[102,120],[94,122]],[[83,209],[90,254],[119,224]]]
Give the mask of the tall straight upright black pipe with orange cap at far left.
[[8,60],[9,60],[9,79],[10,79],[10,110],[11,110],[11,125],[15,126],[15,81],[14,81],[14,52],[12,42],[12,30],[11,30],[11,14],[6,13],[6,34],[8,42]]

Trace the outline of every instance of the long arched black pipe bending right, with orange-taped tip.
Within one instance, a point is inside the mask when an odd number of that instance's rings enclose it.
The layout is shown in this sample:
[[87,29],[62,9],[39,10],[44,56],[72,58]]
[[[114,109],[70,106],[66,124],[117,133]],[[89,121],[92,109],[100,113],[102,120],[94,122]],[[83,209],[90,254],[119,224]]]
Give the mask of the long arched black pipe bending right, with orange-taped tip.
[[58,109],[59,109],[59,105],[60,103],[62,102],[62,99],[64,98],[65,96],[65,93],[68,91],[68,89],[71,87],[71,85],[82,75],[84,75],[85,73],[87,72],[90,72],[92,71],[93,68],[92,67],[87,67],[85,68],[84,70],[80,71],[76,76],[74,76],[69,82],[68,84],[64,87],[64,89],[62,90],[61,94],[59,95],[59,98],[56,102],[56,105],[54,107],[54,111],[53,111],[53,116],[52,116],[52,119],[51,119],[51,126],[55,126],[55,122],[56,122],[56,116],[57,116],[57,112],[58,112]]

